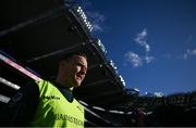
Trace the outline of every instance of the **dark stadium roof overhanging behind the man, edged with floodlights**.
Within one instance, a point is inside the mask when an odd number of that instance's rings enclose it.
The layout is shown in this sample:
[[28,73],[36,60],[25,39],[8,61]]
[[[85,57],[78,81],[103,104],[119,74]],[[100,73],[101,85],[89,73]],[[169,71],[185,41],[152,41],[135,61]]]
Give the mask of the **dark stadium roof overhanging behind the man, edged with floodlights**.
[[[77,9],[81,8],[63,0],[1,2],[0,10],[7,14],[1,15],[0,48],[7,56],[46,79],[54,78],[60,55],[84,50],[89,68],[75,94],[90,104],[105,106],[122,98],[124,85]],[[3,72],[4,76],[8,74]]]

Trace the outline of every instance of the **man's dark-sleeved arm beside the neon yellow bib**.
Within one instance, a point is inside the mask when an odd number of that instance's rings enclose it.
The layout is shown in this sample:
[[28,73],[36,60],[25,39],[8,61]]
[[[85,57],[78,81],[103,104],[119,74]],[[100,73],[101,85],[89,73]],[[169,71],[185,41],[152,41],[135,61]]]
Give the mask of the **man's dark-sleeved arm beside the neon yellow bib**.
[[39,101],[39,89],[34,84],[23,86],[0,112],[0,126],[28,126]]

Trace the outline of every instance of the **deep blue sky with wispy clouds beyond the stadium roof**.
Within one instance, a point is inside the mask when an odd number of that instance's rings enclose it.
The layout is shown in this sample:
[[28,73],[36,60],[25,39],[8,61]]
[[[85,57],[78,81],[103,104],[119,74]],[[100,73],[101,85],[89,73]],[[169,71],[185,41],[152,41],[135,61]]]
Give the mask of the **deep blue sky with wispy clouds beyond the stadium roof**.
[[76,0],[126,88],[196,90],[195,0]]

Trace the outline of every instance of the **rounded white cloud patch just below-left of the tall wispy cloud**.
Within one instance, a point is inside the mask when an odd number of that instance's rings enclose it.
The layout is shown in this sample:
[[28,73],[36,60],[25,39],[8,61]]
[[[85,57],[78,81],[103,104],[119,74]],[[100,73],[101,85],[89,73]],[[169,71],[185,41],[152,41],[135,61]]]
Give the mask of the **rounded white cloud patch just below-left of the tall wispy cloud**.
[[133,65],[133,67],[139,67],[143,65],[142,59],[134,52],[128,51],[127,53],[125,53],[125,59]]

